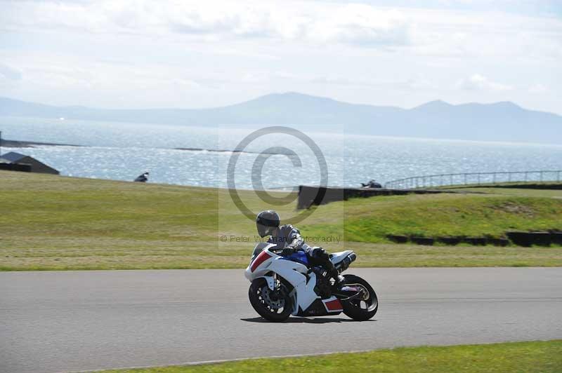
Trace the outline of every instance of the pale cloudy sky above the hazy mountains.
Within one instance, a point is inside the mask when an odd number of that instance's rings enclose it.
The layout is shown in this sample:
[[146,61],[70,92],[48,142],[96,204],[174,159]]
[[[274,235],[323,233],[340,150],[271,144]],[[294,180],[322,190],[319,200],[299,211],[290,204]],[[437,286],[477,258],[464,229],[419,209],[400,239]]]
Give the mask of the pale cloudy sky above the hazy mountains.
[[[420,7],[423,4],[423,7]],[[0,96],[199,108],[268,93],[562,114],[562,1],[3,1]]]

